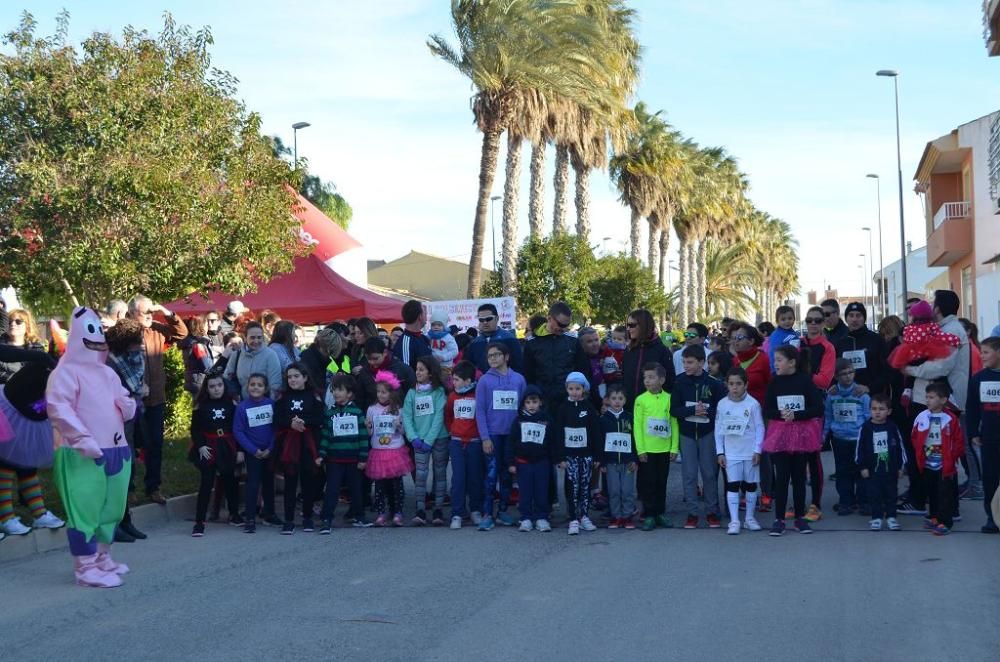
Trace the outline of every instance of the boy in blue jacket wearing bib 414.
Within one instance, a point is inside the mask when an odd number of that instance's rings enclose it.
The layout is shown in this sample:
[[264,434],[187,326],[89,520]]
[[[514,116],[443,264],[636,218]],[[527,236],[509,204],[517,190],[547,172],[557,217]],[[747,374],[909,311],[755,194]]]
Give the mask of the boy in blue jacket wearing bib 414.
[[859,508],[867,510],[865,484],[855,462],[858,434],[871,415],[871,398],[867,393],[854,393],[854,365],[848,359],[837,359],[837,384],[826,399],[823,438],[833,436],[833,459],[837,467],[838,515],[850,515]]

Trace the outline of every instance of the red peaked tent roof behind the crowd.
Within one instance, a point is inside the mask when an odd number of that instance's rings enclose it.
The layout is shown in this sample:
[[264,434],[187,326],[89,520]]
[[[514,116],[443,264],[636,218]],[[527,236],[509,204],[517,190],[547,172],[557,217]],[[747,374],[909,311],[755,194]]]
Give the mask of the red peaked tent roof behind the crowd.
[[342,278],[322,259],[311,254],[295,260],[294,270],[261,283],[256,292],[242,296],[213,292],[206,301],[199,294],[164,304],[181,317],[225,310],[230,301],[239,300],[257,313],[270,308],[285,319],[299,324],[326,324],[335,319],[370,317],[376,322],[400,319],[402,302],[360,288]]

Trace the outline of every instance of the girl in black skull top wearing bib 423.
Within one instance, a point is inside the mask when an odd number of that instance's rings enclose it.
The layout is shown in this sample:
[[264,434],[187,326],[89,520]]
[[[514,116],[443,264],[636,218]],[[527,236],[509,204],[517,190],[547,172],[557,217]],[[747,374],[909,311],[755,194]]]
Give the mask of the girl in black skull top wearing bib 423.
[[323,401],[309,381],[301,363],[285,368],[285,388],[274,404],[275,465],[285,478],[285,524],[281,534],[295,533],[295,501],[302,485],[302,530],[312,533],[313,502],[316,499],[316,460],[323,426]]

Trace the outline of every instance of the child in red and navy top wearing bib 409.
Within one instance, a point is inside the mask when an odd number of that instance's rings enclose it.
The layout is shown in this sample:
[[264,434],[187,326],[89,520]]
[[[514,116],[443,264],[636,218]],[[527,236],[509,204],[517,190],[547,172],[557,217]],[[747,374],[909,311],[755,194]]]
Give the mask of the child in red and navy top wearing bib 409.
[[451,459],[451,528],[461,529],[462,519],[470,517],[475,526],[482,522],[483,442],[476,426],[476,366],[459,361],[451,373],[455,390],[444,408],[444,423],[451,435],[448,453]]

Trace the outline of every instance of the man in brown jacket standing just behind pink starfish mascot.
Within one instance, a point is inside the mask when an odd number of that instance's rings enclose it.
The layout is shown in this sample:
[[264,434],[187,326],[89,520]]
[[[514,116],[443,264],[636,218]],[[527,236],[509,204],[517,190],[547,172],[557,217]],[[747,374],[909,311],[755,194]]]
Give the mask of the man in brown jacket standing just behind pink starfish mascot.
[[[153,313],[161,313],[167,323],[153,321]],[[142,346],[146,357],[146,385],[149,395],[143,400],[143,424],[137,435],[146,464],[146,493],[154,503],[165,504],[160,494],[160,469],[163,461],[163,418],[167,402],[167,375],[163,370],[163,349],[168,342],[187,337],[187,327],[180,317],[149,297],[137,295],[128,303],[128,316],[142,324]]]

